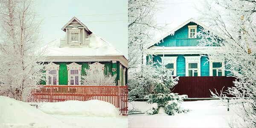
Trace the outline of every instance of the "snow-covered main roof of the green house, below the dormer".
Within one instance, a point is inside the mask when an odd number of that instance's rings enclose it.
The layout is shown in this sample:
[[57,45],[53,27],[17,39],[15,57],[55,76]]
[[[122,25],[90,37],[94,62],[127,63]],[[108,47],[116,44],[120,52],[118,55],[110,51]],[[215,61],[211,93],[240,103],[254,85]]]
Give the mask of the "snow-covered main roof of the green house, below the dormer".
[[67,61],[120,61],[122,65],[128,67],[128,60],[112,44],[92,33],[88,36],[89,45],[81,47],[61,47],[61,41],[66,37],[56,39],[44,46],[47,49],[47,60],[52,62]]

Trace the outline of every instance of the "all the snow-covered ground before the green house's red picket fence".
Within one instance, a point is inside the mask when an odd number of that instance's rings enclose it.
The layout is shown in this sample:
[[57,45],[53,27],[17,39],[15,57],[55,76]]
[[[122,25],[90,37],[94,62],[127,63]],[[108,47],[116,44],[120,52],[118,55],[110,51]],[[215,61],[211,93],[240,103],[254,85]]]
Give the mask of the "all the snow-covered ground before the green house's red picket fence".
[[99,100],[39,103],[0,96],[0,128],[127,128],[127,116],[119,116],[112,104]]

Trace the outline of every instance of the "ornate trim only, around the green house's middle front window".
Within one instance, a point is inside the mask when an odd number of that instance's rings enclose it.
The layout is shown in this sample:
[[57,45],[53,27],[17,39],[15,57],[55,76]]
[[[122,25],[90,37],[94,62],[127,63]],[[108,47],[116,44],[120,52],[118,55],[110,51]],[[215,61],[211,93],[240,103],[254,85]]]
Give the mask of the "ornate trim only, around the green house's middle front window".
[[[79,64],[76,64],[75,62],[71,63],[71,64],[68,64],[67,65],[67,83],[68,85],[70,85],[70,70],[78,70],[78,75],[79,75],[79,80],[78,80],[78,85],[81,85],[81,68],[82,68],[82,65],[79,65]],[[75,82],[75,81],[74,81]]]

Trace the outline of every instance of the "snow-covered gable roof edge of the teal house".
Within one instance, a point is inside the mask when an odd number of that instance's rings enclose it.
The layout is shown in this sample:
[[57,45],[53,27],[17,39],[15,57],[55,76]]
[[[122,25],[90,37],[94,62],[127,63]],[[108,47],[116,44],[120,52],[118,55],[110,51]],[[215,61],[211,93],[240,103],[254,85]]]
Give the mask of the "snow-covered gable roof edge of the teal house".
[[[180,26],[178,26],[177,28],[172,29],[171,32],[168,32],[166,35],[163,35],[162,37],[158,38],[156,41],[154,41],[154,42],[148,44],[148,45],[145,47],[145,49],[148,49],[149,47],[151,47],[151,46],[153,46],[154,44],[156,44],[156,42],[159,42],[159,41],[163,40],[163,38],[166,38],[166,37],[169,36],[169,35],[173,35],[178,29],[182,28],[183,26],[185,26],[186,24],[188,24],[188,23],[190,23],[190,22],[196,23],[196,24],[198,24],[199,26],[203,27],[204,29],[213,31],[212,29],[210,29],[209,27],[207,27],[207,26],[205,26],[204,24],[200,23],[199,21],[197,21],[197,20],[191,18],[191,19],[187,20],[186,22],[182,23],[182,24],[181,24]],[[223,36],[221,36],[221,35],[219,35],[219,36],[220,36],[220,37],[223,37]]]

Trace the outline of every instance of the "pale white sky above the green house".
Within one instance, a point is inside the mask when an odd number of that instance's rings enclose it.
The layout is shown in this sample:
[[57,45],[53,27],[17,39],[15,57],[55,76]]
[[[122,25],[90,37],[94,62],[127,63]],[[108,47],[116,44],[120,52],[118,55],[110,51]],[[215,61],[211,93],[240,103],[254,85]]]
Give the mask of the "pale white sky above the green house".
[[90,31],[128,57],[127,5],[128,0],[35,0],[37,20],[43,20],[42,41],[47,44],[65,35],[61,28],[76,16]]

